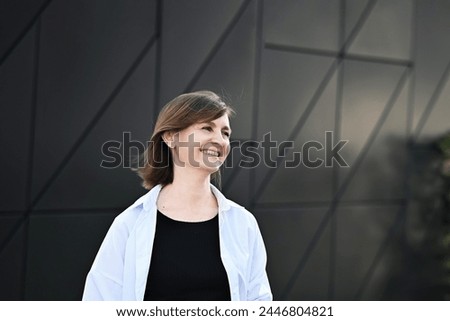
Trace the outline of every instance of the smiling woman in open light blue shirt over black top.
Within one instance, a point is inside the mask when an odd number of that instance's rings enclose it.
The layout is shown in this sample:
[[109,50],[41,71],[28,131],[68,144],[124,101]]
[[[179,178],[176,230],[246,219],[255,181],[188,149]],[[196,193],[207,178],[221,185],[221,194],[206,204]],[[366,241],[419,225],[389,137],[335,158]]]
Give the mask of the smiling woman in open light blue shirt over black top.
[[164,106],[138,169],[150,191],[114,220],[83,300],[272,299],[255,218],[211,184],[232,114],[209,91]]

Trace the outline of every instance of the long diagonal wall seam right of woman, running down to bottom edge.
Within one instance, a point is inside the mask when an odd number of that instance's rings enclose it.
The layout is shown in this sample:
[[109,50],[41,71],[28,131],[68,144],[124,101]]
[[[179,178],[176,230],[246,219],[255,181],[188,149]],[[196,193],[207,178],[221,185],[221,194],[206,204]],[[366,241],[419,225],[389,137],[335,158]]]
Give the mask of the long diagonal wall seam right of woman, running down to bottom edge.
[[411,70],[410,68],[406,68],[405,71],[403,72],[402,76],[400,77],[400,80],[398,81],[391,97],[389,97],[386,107],[384,108],[382,114],[378,118],[378,121],[377,121],[375,127],[372,129],[370,136],[366,141],[366,144],[362,148],[361,152],[358,154],[358,157],[356,158],[355,163],[351,167],[348,176],[345,178],[344,182],[339,187],[339,190],[334,195],[333,200],[330,205],[330,209],[325,213],[322,221],[319,224],[319,227],[317,228],[316,232],[314,233],[313,237],[311,238],[311,241],[309,242],[304,255],[300,258],[300,261],[297,264],[296,269],[294,270],[292,276],[289,278],[286,287],[282,291],[281,300],[286,299],[286,297],[292,291],[295,281],[297,280],[300,273],[303,271],[303,268],[305,267],[309,257],[312,254],[312,251],[314,250],[315,246],[317,245],[317,242],[319,241],[320,237],[322,236],[322,234],[325,230],[325,227],[328,224],[328,221],[334,215],[334,212],[336,211],[336,208],[339,205],[340,199],[342,198],[345,191],[347,190],[347,187],[350,185],[359,166],[361,165],[362,161],[365,159],[373,142],[375,141],[376,137],[378,136],[378,133],[380,132],[384,122],[386,121],[387,117],[389,116],[389,113],[391,112],[398,96],[400,95],[402,88],[404,87],[404,84],[406,83],[406,80],[409,76],[410,70]]

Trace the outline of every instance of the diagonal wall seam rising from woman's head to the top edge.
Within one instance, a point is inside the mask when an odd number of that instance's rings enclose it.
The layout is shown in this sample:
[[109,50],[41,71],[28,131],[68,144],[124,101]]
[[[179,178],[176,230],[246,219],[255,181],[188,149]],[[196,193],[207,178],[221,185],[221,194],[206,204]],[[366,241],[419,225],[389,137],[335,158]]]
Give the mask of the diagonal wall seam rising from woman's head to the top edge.
[[228,26],[225,28],[224,32],[220,35],[219,39],[217,40],[217,42],[214,44],[213,48],[211,49],[211,51],[208,53],[208,55],[206,56],[205,60],[203,60],[202,64],[200,65],[200,67],[198,68],[198,70],[195,72],[194,76],[192,77],[192,79],[189,81],[188,85],[186,86],[184,92],[189,92],[191,91],[196,82],[200,79],[200,77],[202,76],[202,74],[205,72],[206,68],[208,67],[208,65],[211,63],[211,61],[213,60],[213,58],[215,57],[215,55],[217,54],[217,52],[219,52],[219,49],[222,47],[223,43],[225,42],[225,40],[228,38],[229,34],[231,33],[231,31],[234,29],[234,27],[236,26],[236,24],[239,22],[240,18],[242,17],[242,15],[244,14],[245,10],[247,9],[248,5],[250,4],[251,0],[246,0],[238,9],[236,15],[233,17],[233,19],[231,19],[231,22],[228,24]]

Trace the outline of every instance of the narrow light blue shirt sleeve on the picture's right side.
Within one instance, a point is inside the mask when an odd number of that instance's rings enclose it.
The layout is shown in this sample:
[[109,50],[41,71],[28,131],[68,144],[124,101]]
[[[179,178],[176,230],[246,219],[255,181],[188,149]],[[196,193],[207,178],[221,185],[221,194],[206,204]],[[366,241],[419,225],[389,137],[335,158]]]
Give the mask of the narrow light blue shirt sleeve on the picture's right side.
[[247,299],[249,301],[272,301],[272,291],[266,272],[267,254],[256,219],[254,222],[254,242],[250,266],[250,280]]

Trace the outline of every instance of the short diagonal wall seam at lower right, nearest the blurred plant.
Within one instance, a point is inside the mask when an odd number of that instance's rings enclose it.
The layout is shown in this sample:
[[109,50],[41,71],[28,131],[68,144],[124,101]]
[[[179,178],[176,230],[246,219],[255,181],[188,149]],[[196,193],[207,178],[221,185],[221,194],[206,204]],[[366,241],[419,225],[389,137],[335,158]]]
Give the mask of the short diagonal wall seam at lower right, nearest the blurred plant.
[[406,201],[403,200],[402,206],[400,207],[399,211],[397,212],[395,221],[392,223],[391,227],[389,228],[389,231],[388,231],[385,239],[380,244],[380,247],[378,248],[378,251],[375,254],[375,257],[374,257],[372,263],[370,264],[370,267],[367,269],[367,272],[361,281],[360,287],[358,288],[358,290],[355,293],[354,300],[361,300],[361,296],[364,293],[364,290],[367,288],[367,285],[369,284],[370,280],[372,279],[372,277],[375,273],[375,268],[378,266],[378,263],[380,262],[384,253],[388,249],[390,241],[394,237],[395,232],[398,231],[401,223],[405,220],[405,216],[403,215],[403,211],[405,208],[406,208]]

